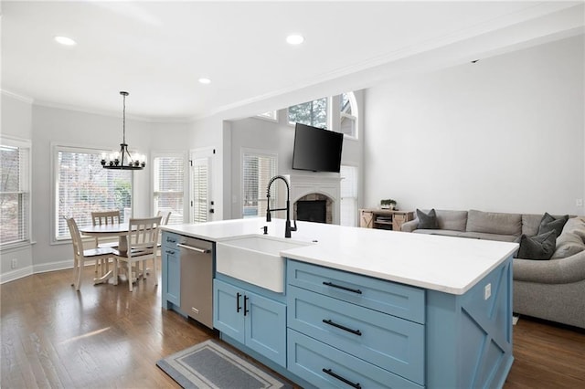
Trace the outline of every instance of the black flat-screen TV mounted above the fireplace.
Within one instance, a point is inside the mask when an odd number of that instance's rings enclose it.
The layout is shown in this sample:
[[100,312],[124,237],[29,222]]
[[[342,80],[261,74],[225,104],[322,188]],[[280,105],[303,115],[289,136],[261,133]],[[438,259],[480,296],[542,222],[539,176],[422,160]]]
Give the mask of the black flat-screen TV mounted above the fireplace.
[[339,173],[343,142],[343,133],[296,123],[293,169]]

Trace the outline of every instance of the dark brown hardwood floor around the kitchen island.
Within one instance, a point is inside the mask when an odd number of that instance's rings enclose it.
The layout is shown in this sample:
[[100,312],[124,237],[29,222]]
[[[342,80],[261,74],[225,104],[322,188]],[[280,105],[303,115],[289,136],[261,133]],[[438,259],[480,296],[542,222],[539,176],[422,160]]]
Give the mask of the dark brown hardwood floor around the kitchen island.
[[[155,363],[215,337],[213,331],[161,309],[160,286],[140,281],[80,292],[69,270],[37,274],[0,287],[3,388],[178,387]],[[514,330],[513,388],[585,387],[585,331],[520,318]]]

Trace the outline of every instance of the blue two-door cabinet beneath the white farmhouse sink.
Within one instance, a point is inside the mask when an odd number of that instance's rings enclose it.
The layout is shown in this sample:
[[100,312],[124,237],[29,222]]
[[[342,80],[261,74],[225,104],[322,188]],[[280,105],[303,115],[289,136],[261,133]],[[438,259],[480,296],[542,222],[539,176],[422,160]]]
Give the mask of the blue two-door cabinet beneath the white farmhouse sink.
[[213,295],[213,325],[222,335],[286,366],[285,304],[220,279]]

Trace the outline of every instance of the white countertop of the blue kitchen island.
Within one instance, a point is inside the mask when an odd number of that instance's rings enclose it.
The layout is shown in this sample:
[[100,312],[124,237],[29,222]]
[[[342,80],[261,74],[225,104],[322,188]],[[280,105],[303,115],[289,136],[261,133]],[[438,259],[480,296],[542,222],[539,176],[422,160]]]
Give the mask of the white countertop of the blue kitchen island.
[[[516,243],[463,237],[440,237],[370,228],[297,222],[292,240],[314,242],[281,252],[286,258],[388,279],[425,289],[463,294],[510,257]],[[220,242],[261,235],[284,239],[284,220],[223,220],[161,228],[188,237]]]

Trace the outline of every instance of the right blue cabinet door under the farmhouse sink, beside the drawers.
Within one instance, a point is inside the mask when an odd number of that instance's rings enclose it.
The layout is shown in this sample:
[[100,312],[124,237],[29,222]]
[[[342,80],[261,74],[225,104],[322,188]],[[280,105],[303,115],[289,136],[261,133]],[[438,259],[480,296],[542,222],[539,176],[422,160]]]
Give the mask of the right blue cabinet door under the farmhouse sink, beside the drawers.
[[246,345],[286,367],[286,306],[245,293]]

